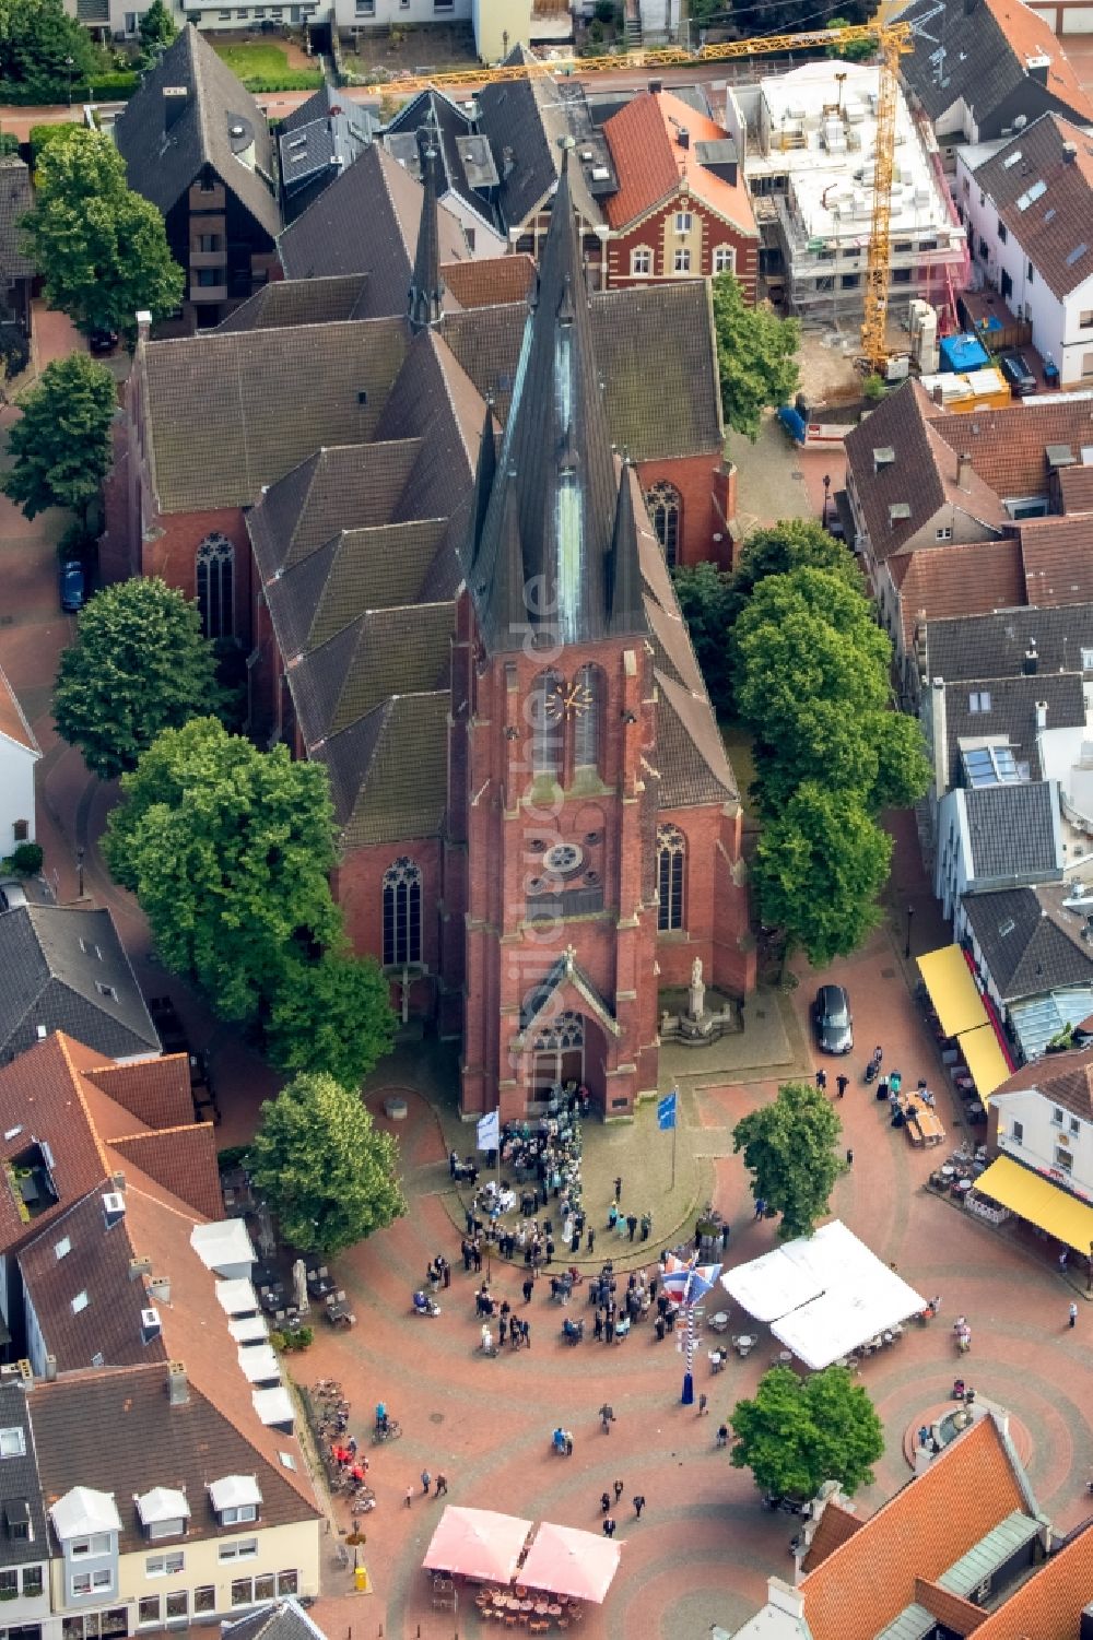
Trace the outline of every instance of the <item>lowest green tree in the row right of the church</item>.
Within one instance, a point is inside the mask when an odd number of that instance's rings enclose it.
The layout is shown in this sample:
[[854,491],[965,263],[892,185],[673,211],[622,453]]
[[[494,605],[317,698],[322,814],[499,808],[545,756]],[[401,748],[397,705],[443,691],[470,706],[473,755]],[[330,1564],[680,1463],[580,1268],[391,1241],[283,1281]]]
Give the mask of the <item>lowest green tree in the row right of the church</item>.
[[891,838],[857,792],[806,781],[763,823],[752,863],[760,918],[803,946],[814,968],[853,951],[881,920],[876,895]]

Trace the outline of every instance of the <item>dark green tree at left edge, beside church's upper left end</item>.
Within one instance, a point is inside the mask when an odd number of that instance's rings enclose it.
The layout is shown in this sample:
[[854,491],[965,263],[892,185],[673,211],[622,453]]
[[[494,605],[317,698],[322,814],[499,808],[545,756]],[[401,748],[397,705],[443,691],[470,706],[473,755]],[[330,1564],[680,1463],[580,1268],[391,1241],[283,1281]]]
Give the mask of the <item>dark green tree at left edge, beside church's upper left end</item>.
[[53,359],[38,387],[25,394],[23,415],[8,433],[15,466],[3,494],[34,518],[46,507],[82,510],[110,467],[110,423],[118,390],[105,364],[85,353]]

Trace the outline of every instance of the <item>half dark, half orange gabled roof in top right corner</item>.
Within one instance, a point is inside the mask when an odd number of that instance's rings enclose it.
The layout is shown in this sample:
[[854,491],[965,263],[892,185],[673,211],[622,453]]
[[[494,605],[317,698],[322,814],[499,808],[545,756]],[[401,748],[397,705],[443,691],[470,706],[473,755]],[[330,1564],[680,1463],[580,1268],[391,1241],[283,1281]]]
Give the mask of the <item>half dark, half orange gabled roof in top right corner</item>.
[[[1088,118],[1088,102],[1062,43],[1016,0],[914,0],[901,21],[911,23],[914,51],[901,59],[899,71],[931,120],[962,98],[981,138],[998,134],[995,121],[1004,110],[1029,118],[1045,108],[1070,108]],[[1052,57],[1044,87],[1027,67],[1027,57],[1040,54]]]

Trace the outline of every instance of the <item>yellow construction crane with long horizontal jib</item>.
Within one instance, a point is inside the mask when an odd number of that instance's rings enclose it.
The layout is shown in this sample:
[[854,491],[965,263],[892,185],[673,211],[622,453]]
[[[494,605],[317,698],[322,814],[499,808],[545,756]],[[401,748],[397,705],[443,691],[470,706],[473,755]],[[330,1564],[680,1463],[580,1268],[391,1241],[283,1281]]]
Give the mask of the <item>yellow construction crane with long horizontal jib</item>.
[[899,98],[899,57],[912,49],[909,23],[852,23],[847,28],[812,28],[796,34],[760,34],[753,39],[727,39],[716,46],[688,51],[684,46],[656,46],[606,57],[551,57],[517,62],[501,69],[456,69],[422,79],[396,79],[391,92],[414,93],[428,85],[464,87],[496,85],[502,80],[566,79],[569,75],[625,72],[629,69],[696,67],[702,62],[729,62],[735,57],[760,57],[776,51],[807,51],[817,46],[850,46],[876,41],[881,57],[876,98],[876,153],[873,159],[873,216],[865,274],[865,315],[862,320],[862,353],[873,369],[888,358],[888,264],[891,226],[891,177],[896,146],[896,107]]

